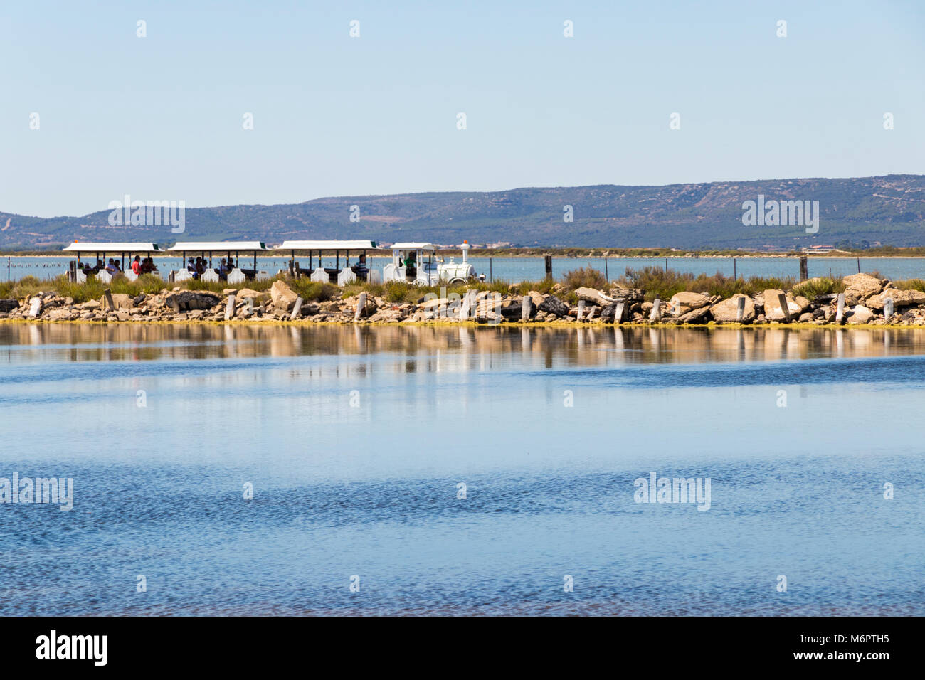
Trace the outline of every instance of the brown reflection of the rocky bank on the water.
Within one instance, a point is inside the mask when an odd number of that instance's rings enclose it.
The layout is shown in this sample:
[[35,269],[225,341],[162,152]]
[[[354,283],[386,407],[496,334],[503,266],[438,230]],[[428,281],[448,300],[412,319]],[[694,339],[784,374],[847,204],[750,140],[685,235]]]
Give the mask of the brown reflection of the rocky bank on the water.
[[[435,370],[755,362],[925,353],[919,328],[524,328],[0,324],[0,360],[154,361],[392,353]],[[469,359],[461,363],[461,359]],[[472,361],[475,360],[475,361]],[[421,370],[415,362],[402,362]]]

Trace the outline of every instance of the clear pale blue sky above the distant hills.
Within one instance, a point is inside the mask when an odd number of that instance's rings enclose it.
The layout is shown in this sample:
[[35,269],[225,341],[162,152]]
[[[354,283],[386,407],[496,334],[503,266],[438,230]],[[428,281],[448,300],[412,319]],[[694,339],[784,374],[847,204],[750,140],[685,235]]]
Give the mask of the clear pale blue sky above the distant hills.
[[0,211],[32,216],[925,172],[919,2],[40,0],[0,56]]

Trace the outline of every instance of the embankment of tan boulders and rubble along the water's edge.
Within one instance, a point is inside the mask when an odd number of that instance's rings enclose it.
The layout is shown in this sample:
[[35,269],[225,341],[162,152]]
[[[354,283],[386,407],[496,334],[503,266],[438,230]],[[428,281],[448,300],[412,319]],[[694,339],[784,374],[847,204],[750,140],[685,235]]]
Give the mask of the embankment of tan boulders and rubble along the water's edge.
[[[811,282],[811,281],[810,281]],[[806,286],[804,285],[804,289]],[[797,289],[801,290],[801,289]],[[326,302],[302,302],[285,281],[275,281],[269,291],[226,289],[221,293],[175,288],[135,297],[104,295],[100,300],[75,303],[54,292],[39,292],[22,300],[0,300],[0,319],[35,321],[290,321],[314,323],[425,323],[473,321],[483,324],[536,323],[636,323],[636,324],[809,324],[925,325],[925,292],[899,290],[886,279],[868,274],[845,277],[845,307],[837,319],[838,295],[809,300],[794,291],[763,291],[754,296],[734,295],[722,299],[706,293],[683,291],[671,300],[642,302],[643,291],[613,288],[609,291],[579,288],[578,304],[565,302],[561,284],[549,293],[529,291],[502,295],[469,291],[462,298],[424,296],[415,303],[393,303],[367,295],[357,313],[359,295]],[[229,299],[234,296],[233,303]],[[524,303],[524,297],[528,302]],[[783,310],[783,303],[786,312]],[[742,299],[744,302],[740,302]],[[884,309],[893,305],[889,320]],[[740,313],[741,307],[741,313]],[[526,312],[526,318],[522,319]],[[740,315],[741,314],[741,315]]]

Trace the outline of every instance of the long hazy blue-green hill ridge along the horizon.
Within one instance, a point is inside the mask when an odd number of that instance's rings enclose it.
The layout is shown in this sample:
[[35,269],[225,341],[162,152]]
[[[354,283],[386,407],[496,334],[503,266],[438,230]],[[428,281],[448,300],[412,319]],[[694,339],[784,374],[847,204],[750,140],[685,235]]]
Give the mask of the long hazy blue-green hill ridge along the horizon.
[[[819,201],[820,229],[746,227],[745,201]],[[163,198],[141,197],[135,198]],[[351,205],[360,221],[351,222]],[[573,206],[572,223],[563,206]],[[794,248],[844,241],[923,245],[925,176],[759,181],[630,187],[512,189],[506,192],[405,193],[321,198],[301,204],[188,208],[186,229],[110,227],[108,210],[82,217],[39,218],[0,213],[0,248],[70,241],[174,241],[369,238],[375,241],[524,246]]]

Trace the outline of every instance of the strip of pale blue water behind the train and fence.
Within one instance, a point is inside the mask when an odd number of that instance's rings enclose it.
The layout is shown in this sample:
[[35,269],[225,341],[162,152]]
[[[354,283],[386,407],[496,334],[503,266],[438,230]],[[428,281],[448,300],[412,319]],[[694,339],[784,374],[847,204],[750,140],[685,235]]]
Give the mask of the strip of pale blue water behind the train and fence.
[[[27,275],[38,278],[54,278],[59,274],[65,274],[68,271],[67,257],[12,257],[9,258],[9,269],[6,269],[6,258],[0,259],[0,280],[6,281],[7,275],[12,280],[18,280]],[[458,258],[457,258],[458,259]],[[241,261],[247,258],[241,258]],[[213,265],[218,266],[221,257],[213,258]],[[276,274],[278,270],[287,267],[288,258],[258,258],[257,265],[265,269],[270,274]],[[302,266],[306,266],[308,258],[301,257],[299,261]],[[378,270],[388,264],[391,260],[384,257],[370,258],[372,266]],[[494,257],[488,262],[487,257],[473,257],[470,261],[475,266],[478,274],[485,274],[485,278],[504,279],[512,282],[526,280],[538,280],[545,276],[545,268],[542,257]],[[171,269],[178,269],[180,259],[178,258],[157,258],[155,260],[158,269],[160,269],[165,278]],[[351,259],[351,264],[356,259]],[[325,258],[325,266],[335,266],[333,257]],[[343,259],[340,260],[341,266]],[[251,266],[248,264],[247,266]],[[665,266],[665,258],[608,258],[606,264],[600,257],[554,257],[552,259],[552,272],[556,278],[561,277],[568,271],[583,266],[591,266],[599,271],[606,271],[611,278],[618,278],[623,275],[627,267],[632,269],[641,269],[644,266]],[[861,271],[871,272],[879,271],[884,277],[893,279],[903,278],[925,278],[925,258],[904,257],[904,258],[861,258]],[[692,258],[692,257],[673,257],[668,258],[668,267],[670,269],[692,274],[713,275],[717,272],[726,276],[734,274],[740,277],[796,277],[799,275],[799,262],[794,258],[783,257],[752,257],[736,258],[735,264],[731,257],[726,258]],[[815,257],[809,258],[808,262],[809,276],[845,276],[848,274],[857,274],[857,259],[854,257]]]

